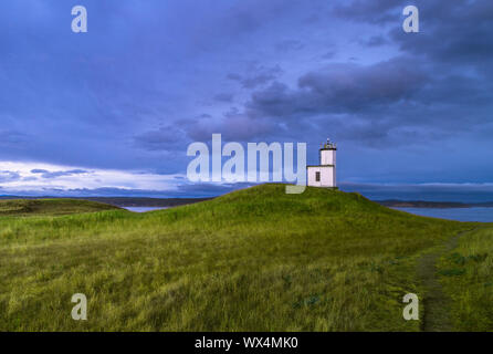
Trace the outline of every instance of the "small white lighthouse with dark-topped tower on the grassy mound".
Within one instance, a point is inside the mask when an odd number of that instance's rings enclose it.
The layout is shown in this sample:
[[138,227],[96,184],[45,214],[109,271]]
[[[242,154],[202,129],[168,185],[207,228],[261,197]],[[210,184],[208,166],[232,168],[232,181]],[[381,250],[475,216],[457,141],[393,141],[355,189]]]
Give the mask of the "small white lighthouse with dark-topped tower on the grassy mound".
[[336,152],[337,146],[327,139],[319,150],[319,165],[306,166],[308,186],[336,188]]

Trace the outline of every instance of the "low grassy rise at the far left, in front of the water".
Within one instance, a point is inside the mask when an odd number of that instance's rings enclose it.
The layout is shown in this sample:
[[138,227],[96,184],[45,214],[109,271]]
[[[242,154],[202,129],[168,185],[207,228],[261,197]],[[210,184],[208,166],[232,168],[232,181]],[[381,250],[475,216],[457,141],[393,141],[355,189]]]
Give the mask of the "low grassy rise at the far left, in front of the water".
[[76,199],[0,200],[0,216],[59,216],[117,209],[116,207]]

